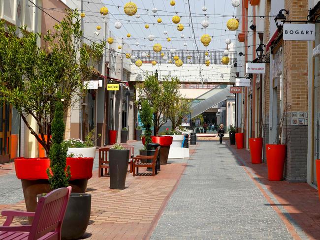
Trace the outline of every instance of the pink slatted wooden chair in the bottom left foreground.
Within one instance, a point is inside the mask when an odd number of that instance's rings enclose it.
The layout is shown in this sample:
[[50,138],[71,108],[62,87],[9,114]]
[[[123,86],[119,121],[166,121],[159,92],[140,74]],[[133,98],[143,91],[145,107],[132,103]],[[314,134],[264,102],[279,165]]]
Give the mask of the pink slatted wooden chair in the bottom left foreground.
[[[41,197],[35,212],[5,210],[7,216],[0,227],[1,240],[61,240],[61,226],[71,193],[71,187],[59,188]],[[12,226],[13,217],[34,217],[32,225]]]

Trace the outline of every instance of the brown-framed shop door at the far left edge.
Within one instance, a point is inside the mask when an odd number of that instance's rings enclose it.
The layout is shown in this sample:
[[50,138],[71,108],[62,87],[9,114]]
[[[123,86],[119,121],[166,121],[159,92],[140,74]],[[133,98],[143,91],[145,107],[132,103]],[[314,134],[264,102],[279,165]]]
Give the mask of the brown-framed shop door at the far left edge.
[[11,116],[12,108],[9,104],[0,106],[0,163],[8,162],[10,159],[11,145]]

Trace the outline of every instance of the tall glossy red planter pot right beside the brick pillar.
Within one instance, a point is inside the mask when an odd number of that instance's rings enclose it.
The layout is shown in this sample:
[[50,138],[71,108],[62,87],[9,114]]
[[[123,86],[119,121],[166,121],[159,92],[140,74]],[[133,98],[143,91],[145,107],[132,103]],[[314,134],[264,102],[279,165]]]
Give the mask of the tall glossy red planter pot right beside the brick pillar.
[[283,179],[286,145],[283,144],[267,144],[266,145],[268,180],[281,181]]

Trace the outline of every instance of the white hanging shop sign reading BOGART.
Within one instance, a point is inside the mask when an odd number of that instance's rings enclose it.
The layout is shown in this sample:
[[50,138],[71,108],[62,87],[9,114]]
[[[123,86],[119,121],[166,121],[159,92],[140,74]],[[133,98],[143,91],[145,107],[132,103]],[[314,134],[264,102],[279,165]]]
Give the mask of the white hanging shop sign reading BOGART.
[[285,23],[283,39],[292,41],[314,41],[316,33],[315,24]]

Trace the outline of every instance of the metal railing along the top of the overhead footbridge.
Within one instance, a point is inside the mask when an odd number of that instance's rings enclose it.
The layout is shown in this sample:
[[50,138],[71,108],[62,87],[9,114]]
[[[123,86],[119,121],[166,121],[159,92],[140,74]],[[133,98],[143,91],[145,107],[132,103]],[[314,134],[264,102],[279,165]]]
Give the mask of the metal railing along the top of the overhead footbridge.
[[[133,50],[132,56],[135,56],[137,59],[141,59],[143,63],[151,63],[152,60],[156,60],[158,63],[168,63],[168,60],[172,60],[174,62],[173,57],[178,56],[179,59],[182,60],[185,64],[199,64],[205,63],[205,52],[208,52],[208,56],[210,56],[210,64],[222,64],[221,59],[224,56],[224,51],[182,51],[177,50],[175,53],[171,53],[169,50],[163,50],[160,53],[156,53],[154,51],[142,51],[142,50]],[[168,58],[168,60],[163,60],[161,57],[161,53],[164,54]],[[237,61],[237,52],[229,52],[229,63],[228,65],[233,65]]]

